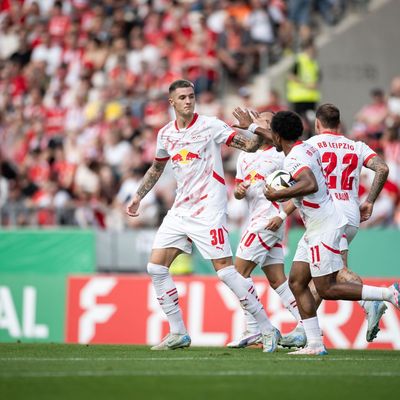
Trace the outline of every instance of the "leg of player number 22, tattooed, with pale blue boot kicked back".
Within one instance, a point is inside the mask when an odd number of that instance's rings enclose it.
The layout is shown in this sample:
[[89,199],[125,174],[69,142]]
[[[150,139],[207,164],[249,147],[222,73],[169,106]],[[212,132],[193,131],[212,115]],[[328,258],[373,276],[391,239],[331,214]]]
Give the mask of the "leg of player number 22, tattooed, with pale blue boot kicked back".
[[[354,237],[356,236],[358,228],[351,225],[346,225],[345,234],[340,239],[340,253],[342,255],[343,260],[343,269],[338,272],[337,280],[338,282],[353,282],[362,284],[361,278],[354,272],[351,271],[348,267],[348,253],[349,253],[349,244],[352,242]],[[379,321],[382,318],[382,315],[385,313],[387,306],[383,301],[365,301],[360,300],[358,302],[360,306],[363,308],[366,318],[367,318],[367,333],[366,340],[367,342],[372,342],[378,332],[379,332]]]

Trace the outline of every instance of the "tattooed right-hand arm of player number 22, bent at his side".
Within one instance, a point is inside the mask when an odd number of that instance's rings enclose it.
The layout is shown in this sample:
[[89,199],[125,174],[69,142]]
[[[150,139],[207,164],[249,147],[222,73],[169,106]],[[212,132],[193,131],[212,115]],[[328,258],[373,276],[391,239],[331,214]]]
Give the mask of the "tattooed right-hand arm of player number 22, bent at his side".
[[371,189],[369,190],[367,200],[360,205],[360,220],[361,222],[367,221],[374,208],[375,200],[378,198],[379,193],[383,189],[387,177],[389,175],[389,167],[380,157],[375,156],[368,160],[365,165],[367,168],[375,171],[374,180],[372,181]]

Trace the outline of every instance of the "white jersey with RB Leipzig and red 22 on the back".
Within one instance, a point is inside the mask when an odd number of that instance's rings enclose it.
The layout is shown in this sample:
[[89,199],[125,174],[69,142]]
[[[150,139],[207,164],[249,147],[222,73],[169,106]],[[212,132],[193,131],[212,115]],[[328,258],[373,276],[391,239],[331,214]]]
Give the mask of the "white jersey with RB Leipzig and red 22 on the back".
[[328,188],[349,224],[360,225],[358,187],[363,165],[376,156],[365,143],[336,133],[322,133],[307,140],[321,155]]

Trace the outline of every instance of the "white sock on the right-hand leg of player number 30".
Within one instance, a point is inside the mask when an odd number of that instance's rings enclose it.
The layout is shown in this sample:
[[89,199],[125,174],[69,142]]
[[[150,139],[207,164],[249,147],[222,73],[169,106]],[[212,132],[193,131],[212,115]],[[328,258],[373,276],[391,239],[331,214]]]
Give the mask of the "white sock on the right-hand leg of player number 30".
[[249,284],[233,265],[220,269],[217,275],[235,293],[243,309],[255,318],[261,333],[271,332],[272,324],[255,295],[254,285]]

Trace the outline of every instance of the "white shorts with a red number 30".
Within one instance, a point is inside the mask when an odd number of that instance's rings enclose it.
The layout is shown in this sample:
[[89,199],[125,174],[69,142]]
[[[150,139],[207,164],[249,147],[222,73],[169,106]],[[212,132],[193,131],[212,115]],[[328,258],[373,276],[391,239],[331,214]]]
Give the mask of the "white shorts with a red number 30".
[[176,215],[170,210],[157,231],[153,249],[174,247],[190,254],[192,242],[206,259],[231,257],[226,214],[217,213],[211,220]]

